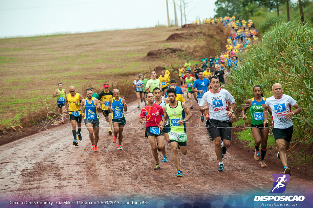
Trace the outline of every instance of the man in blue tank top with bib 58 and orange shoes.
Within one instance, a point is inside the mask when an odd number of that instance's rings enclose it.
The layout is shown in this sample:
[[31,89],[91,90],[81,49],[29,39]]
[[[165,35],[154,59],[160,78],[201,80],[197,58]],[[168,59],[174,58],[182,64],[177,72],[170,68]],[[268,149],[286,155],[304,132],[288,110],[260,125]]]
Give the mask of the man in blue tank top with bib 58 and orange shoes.
[[126,120],[124,117],[124,112],[127,111],[127,103],[124,98],[120,97],[120,91],[118,89],[114,89],[113,98],[109,101],[109,109],[112,115],[112,123],[114,129],[114,137],[113,143],[116,143],[116,138],[118,134],[118,150],[122,150],[122,140],[123,140],[123,129],[126,124]]

